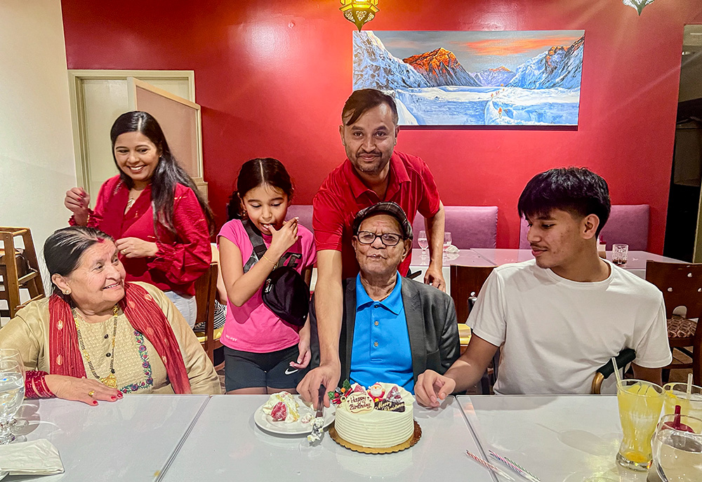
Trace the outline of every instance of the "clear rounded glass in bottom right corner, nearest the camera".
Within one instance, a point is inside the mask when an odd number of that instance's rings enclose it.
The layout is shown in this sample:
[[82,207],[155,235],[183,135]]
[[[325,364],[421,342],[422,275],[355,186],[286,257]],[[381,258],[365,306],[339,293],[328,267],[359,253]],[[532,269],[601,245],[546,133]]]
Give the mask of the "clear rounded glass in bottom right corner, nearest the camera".
[[651,447],[653,465],[662,481],[702,481],[702,420],[663,415]]

